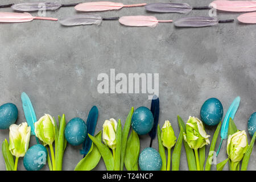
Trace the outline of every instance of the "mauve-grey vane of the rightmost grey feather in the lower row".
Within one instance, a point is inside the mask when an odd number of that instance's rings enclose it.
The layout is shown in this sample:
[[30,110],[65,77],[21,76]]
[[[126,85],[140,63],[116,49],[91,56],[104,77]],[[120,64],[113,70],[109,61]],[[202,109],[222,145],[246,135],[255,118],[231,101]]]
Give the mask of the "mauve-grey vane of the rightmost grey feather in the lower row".
[[180,18],[174,22],[176,27],[206,27],[216,26],[218,19],[209,16],[193,16]]

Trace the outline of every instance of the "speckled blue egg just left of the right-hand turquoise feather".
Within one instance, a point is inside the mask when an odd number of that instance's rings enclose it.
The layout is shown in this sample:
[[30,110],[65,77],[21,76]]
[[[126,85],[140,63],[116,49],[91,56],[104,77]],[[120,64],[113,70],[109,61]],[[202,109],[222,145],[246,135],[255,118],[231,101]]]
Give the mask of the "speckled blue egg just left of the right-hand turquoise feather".
[[223,116],[221,102],[217,98],[209,98],[201,107],[200,115],[205,125],[218,125]]

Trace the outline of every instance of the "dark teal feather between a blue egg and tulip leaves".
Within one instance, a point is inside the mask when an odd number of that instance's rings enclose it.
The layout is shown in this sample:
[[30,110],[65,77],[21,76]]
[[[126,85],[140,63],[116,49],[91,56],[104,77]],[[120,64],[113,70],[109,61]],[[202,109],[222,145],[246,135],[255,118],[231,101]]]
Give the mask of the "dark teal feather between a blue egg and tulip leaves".
[[[98,120],[98,108],[96,106],[93,106],[92,109],[90,109],[90,112],[88,114],[88,118],[86,121],[88,134],[92,136],[94,136],[97,120]],[[85,155],[88,154],[91,146],[92,146],[92,140],[87,135],[84,140],[84,143],[82,144],[82,150],[80,151],[80,153],[83,154],[85,157]]]

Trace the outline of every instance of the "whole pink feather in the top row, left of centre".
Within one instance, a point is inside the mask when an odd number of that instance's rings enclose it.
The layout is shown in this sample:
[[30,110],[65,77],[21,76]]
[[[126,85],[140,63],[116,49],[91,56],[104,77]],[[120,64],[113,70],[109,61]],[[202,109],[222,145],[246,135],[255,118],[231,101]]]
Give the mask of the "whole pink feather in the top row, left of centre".
[[145,6],[146,3],[137,5],[123,5],[118,2],[100,1],[100,2],[85,2],[75,6],[77,11],[107,11],[107,10],[119,10],[122,7],[137,7]]

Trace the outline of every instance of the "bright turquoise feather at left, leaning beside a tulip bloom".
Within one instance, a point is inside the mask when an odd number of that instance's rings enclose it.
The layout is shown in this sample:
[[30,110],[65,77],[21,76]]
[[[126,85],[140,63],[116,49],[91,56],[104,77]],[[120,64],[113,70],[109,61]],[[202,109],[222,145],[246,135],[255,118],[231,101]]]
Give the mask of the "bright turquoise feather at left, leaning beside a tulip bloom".
[[23,106],[23,110],[24,110],[24,115],[25,115],[26,120],[27,120],[27,124],[28,124],[28,126],[31,127],[31,135],[35,135],[34,123],[37,120],[36,120],[36,115],[35,115],[34,108],[32,106],[30,98],[27,96],[26,93],[24,93],[24,92],[22,93],[21,99],[22,99],[22,106]]

